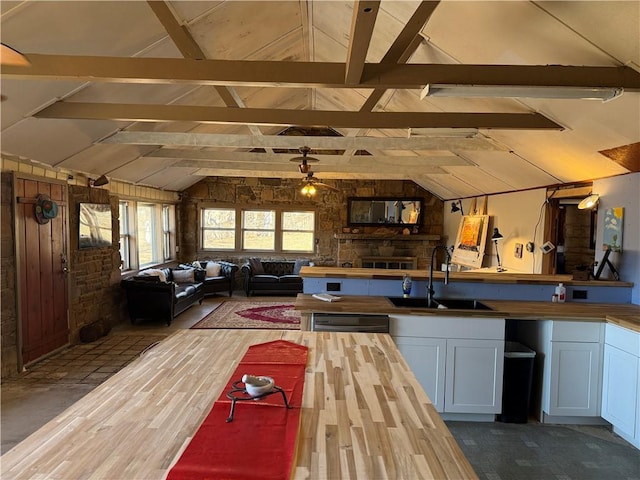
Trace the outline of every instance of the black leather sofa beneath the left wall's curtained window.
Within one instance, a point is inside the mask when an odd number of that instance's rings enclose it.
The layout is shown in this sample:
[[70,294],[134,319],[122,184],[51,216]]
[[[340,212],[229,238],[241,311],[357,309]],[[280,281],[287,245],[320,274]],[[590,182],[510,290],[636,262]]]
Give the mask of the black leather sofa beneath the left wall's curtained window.
[[[166,282],[157,275],[144,275],[144,271],[120,282],[126,291],[131,323],[137,319],[162,319],[171,325],[171,321],[191,305],[196,302],[202,304],[203,283],[196,281],[195,276],[191,276],[193,280],[190,281],[187,269],[160,270]],[[191,270],[195,272],[195,268]],[[176,271],[180,273],[174,275]]]

